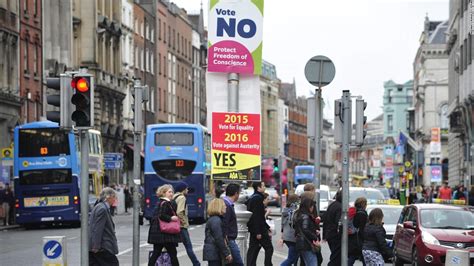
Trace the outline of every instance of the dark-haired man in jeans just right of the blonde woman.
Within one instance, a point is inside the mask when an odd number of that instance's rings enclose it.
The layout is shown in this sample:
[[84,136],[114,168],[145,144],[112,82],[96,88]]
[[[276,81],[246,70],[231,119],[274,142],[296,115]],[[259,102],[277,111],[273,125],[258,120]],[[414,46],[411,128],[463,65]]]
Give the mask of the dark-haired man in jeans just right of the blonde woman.
[[235,242],[237,239],[238,227],[234,203],[239,199],[239,194],[240,186],[238,184],[230,183],[227,185],[224,197],[226,212],[222,221],[225,224],[224,235],[227,237],[228,246],[232,254],[232,266],[244,266],[242,256],[240,256],[239,245]]

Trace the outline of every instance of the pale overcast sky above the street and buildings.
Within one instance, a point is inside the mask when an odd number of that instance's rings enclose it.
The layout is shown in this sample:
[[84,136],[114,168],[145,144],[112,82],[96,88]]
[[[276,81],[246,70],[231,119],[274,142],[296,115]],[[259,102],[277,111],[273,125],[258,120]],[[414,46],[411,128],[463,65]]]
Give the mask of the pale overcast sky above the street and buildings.
[[[172,0],[198,13],[200,0]],[[208,1],[203,1],[207,25]],[[323,88],[324,118],[334,119],[334,100],[343,90],[362,96],[369,120],[382,113],[383,84],[413,79],[413,62],[426,15],[448,20],[449,0],[266,0],[263,59],[282,82],[296,82],[297,94],[315,87],[304,76],[313,56],[329,57],[336,76]]]

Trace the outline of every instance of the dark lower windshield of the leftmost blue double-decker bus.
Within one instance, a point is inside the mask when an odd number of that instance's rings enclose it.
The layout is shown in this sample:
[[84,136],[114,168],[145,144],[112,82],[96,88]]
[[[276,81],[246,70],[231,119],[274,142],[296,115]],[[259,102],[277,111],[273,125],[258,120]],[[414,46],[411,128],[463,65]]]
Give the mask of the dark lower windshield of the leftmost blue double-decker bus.
[[70,169],[38,169],[20,172],[20,185],[70,184]]

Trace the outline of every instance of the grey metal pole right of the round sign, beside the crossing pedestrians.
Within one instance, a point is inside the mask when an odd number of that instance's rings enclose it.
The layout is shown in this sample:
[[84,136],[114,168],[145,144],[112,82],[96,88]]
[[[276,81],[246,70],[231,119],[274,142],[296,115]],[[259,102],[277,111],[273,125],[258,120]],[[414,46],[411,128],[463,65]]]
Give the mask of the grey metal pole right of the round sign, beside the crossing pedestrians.
[[342,94],[342,105],[344,112],[344,121],[342,127],[342,246],[341,246],[341,263],[347,265],[348,256],[348,239],[347,239],[347,208],[349,207],[349,148],[351,141],[351,115],[352,107],[350,100],[350,92],[344,90]]

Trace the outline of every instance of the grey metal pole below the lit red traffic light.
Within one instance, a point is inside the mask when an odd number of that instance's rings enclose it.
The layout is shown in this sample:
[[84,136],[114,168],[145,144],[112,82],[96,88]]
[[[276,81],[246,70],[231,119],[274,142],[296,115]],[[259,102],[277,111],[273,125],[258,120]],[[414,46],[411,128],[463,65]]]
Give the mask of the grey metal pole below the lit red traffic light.
[[81,136],[81,266],[89,265],[89,131]]

